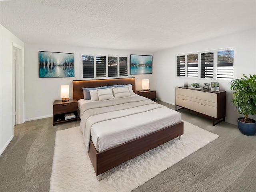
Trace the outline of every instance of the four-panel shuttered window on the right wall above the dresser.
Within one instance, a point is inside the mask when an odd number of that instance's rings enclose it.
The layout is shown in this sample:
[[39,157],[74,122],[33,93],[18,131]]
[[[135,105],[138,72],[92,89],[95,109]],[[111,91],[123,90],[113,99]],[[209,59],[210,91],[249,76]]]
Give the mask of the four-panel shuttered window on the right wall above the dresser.
[[177,77],[233,78],[234,49],[177,55],[176,60]]

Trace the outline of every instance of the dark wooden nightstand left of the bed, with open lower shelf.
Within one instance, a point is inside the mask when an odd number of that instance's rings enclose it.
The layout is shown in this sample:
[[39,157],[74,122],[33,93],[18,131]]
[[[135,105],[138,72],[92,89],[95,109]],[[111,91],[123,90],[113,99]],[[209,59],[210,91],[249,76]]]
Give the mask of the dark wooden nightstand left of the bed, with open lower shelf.
[[[69,101],[56,100],[53,103],[53,126],[58,123],[77,120],[77,100],[70,99]],[[75,118],[65,119],[65,114],[74,113]]]

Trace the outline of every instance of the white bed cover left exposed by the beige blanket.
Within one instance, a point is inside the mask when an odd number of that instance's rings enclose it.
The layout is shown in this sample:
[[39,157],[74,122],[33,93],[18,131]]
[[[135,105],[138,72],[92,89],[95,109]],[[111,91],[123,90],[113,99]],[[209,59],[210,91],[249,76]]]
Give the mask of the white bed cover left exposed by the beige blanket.
[[[138,96],[138,97],[141,97],[141,96]],[[118,100],[120,99],[122,98],[119,98]],[[85,102],[85,104],[88,102]],[[104,101],[96,101],[96,102],[104,102]],[[160,130],[164,127],[170,126],[172,124],[176,124],[181,121],[179,112],[171,110],[153,101],[151,103],[152,104],[138,106],[136,108],[126,109],[123,111],[124,113],[129,113],[128,110],[140,111],[146,108],[145,112],[142,112],[142,113],[138,112],[136,114],[131,114],[128,116],[114,118],[110,120],[104,120],[102,122],[97,122],[93,124],[91,126],[90,134],[96,150],[98,152],[101,152],[108,148],[117,146],[124,142],[128,142],[140,136],[144,136],[146,134],[152,133],[156,130]],[[147,107],[149,110],[147,110]],[[118,111],[118,113],[119,112],[122,112],[122,111]],[[81,120],[81,123],[82,122],[83,120]],[[81,128],[82,128],[82,125],[81,125]],[[83,134],[85,134],[83,130],[82,132]],[[84,138],[85,137],[86,136],[84,135]]]

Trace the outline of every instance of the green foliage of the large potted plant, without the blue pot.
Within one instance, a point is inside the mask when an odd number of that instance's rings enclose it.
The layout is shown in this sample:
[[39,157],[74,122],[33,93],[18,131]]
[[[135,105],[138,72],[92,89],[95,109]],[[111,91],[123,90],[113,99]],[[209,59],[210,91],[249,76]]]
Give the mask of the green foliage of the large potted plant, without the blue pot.
[[243,76],[244,78],[232,80],[230,88],[234,96],[233,104],[248,121],[248,115],[256,114],[256,75],[250,75],[250,78],[244,74]]

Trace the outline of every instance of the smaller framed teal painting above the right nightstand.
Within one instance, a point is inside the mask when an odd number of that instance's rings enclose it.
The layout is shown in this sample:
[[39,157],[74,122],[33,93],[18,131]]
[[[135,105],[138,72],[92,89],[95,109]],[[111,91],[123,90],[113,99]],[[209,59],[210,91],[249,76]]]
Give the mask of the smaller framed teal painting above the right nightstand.
[[152,74],[151,55],[130,55],[130,74]]

